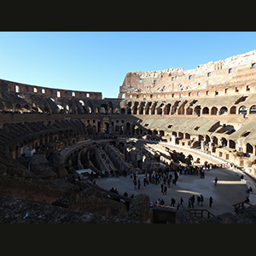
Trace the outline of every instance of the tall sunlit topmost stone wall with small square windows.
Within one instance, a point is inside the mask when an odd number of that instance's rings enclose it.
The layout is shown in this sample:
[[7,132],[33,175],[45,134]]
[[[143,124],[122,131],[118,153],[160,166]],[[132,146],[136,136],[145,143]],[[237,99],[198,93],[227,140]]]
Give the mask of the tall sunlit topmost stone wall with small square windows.
[[214,96],[221,90],[239,94],[241,87],[252,89],[256,80],[256,50],[195,69],[168,68],[161,71],[127,73],[119,98],[154,99]]

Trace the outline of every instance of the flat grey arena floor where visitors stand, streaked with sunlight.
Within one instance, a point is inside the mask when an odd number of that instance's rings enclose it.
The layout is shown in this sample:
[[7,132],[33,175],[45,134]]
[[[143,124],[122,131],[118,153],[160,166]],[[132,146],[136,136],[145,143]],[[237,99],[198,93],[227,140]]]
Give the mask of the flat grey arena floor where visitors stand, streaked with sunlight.
[[[218,177],[218,184],[214,186],[214,178]],[[188,200],[191,195],[195,195],[195,208],[204,208],[212,212],[213,214],[222,214],[224,212],[234,212],[233,204],[244,201],[246,196],[247,185],[241,183],[240,177],[236,172],[232,172],[229,169],[211,169],[205,171],[205,178],[200,178],[200,175],[180,175],[177,180],[177,185],[170,189],[167,189],[167,195],[163,195],[160,192],[160,184],[149,183],[148,188],[143,186],[143,174],[138,175],[141,180],[141,189],[134,190],[133,183],[130,176],[127,177],[108,177],[97,178],[97,185],[104,189],[118,189],[119,194],[123,195],[125,191],[128,196],[132,194],[138,195],[139,193],[146,193],[150,201],[156,201],[157,199],[163,199],[167,206],[171,205],[171,198],[173,197],[177,201],[183,196],[183,206],[188,207]],[[197,195],[204,196],[203,207],[198,207],[196,204]],[[212,196],[212,207],[209,207],[209,197]],[[255,203],[255,202],[254,202]]]

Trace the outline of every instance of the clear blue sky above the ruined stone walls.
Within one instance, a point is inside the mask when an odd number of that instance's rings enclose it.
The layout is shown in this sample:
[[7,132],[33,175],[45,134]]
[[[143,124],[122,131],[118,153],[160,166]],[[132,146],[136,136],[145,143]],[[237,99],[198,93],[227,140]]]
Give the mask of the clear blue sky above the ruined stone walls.
[[0,79],[116,98],[125,74],[256,49],[256,32],[0,32]]

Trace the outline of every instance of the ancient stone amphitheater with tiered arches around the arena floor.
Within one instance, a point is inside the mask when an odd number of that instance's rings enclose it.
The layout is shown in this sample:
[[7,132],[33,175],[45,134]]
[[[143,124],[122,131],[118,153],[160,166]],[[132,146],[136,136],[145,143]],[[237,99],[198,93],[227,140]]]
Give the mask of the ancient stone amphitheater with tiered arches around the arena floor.
[[[207,162],[255,187],[256,50],[190,70],[127,73],[118,98],[0,83],[1,223],[65,223],[51,218],[56,211],[67,223],[152,222],[146,196],[141,213],[139,196],[114,195],[78,170],[130,178]],[[12,217],[10,200],[29,204],[33,218],[29,210]]]

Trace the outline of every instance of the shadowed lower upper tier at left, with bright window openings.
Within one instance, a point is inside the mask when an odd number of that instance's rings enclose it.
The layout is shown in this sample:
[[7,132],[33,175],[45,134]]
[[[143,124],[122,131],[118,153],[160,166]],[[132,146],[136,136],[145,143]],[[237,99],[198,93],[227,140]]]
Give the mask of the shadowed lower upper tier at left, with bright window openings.
[[102,100],[102,93],[53,89],[0,79],[1,111],[90,113],[90,106],[85,103],[90,100]]

